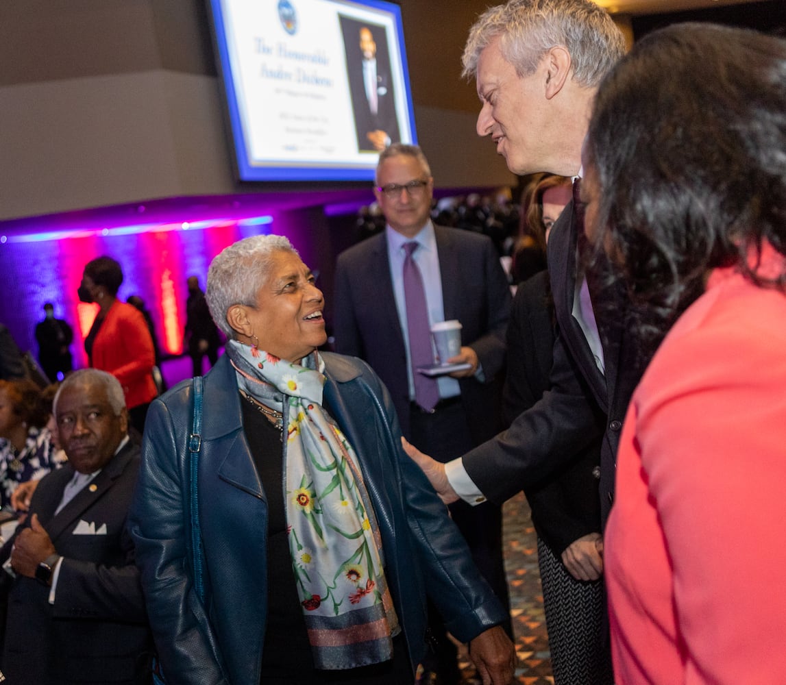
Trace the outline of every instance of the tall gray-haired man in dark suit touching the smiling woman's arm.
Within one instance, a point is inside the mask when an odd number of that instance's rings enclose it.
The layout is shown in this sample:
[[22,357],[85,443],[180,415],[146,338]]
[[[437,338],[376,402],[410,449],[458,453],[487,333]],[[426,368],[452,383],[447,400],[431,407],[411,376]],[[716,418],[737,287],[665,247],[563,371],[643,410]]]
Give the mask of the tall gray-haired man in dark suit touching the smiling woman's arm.
[[[578,178],[593,98],[624,51],[611,17],[589,0],[511,0],[488,9],[470,30],[463,57],[464,73],[475,76],[481,101],[477,133],[491,137],[516,174],[548,171]],[[577,191],[575,185],[574,197]],[[579,258],[585,242],[581,207],[571,203],[549,238],[559,328],[550,390],[509,430],[460,459],[438,463],[408,448],[446,502],[504,502],[602,435],[601,524],[608,518],[619,430],[641,366],[626,344],[624,299],[595,288],[602,274],[596,265],[587,271]],[[566,566],[599,577],[598,533],[575,540],[566,552]],[[602,628],[597,633],[596,663],[581,672],[571,665],[565,680],[555,669],[557,683],[611,682],[608,640]]]

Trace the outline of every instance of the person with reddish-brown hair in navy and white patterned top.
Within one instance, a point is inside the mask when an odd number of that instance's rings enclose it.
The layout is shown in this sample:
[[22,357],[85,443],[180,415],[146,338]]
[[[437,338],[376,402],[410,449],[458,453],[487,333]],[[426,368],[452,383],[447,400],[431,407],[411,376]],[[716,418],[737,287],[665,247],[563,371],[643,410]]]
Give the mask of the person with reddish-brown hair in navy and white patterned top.
[[0,380],[0,507],[10,506],[20,483],[51,471],[55,448],[48,419],[39,386],[27,379]]

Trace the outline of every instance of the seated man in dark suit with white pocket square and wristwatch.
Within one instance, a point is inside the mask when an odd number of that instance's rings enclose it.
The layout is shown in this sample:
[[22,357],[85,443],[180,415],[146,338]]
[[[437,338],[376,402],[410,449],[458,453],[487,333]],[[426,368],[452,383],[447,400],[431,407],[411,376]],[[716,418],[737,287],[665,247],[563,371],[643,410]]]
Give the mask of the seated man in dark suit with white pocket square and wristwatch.
[[11,683],[150,683],[152,638],[126,518],[139,471],[123,388],[94,368],[57,390],[68,463],[42,478],[0,552],[13,577],[2,671]]

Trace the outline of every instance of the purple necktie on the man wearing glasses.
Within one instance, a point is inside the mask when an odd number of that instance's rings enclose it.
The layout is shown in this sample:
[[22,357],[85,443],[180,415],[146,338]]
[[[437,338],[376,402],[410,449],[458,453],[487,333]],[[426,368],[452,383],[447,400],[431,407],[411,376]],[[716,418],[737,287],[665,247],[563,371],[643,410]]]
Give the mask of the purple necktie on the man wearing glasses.
[[417,372],[417,367],[434,364],[432,333],[428,326],[426,293],[423,288],[421,269],[413,259],[417,250],[415,241],[404,244],[404,302],[406,303],[406,328],[410,332],[410,361],[415,383],[415,401],[427,412],[439,402],[439,389],[435,379]]

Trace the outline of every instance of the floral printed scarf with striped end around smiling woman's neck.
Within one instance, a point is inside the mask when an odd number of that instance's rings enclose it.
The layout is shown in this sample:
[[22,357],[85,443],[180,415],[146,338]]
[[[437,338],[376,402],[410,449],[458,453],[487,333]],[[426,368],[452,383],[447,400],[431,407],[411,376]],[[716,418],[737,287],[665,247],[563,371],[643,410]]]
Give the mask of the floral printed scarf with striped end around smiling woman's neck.
[[358,457],[322,408],[325,362],[291,364],[231,340],[238,384],[284,414],[289,551],[314,666],[353,669],[393,655],[399,621]]

